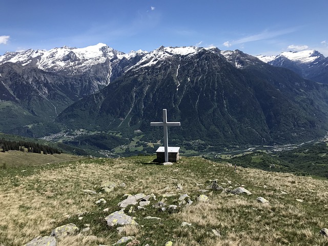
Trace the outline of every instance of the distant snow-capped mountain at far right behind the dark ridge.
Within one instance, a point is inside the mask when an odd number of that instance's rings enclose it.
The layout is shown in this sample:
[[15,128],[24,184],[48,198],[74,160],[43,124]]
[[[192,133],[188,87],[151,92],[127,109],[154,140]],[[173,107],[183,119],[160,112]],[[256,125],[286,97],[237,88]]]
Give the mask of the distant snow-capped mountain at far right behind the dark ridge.
[[316,50],[287,51],[276,56],[256,57],[270,65],[291,69],[304,78],[328,84],[328,58]]

